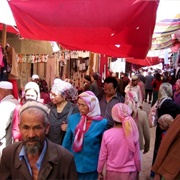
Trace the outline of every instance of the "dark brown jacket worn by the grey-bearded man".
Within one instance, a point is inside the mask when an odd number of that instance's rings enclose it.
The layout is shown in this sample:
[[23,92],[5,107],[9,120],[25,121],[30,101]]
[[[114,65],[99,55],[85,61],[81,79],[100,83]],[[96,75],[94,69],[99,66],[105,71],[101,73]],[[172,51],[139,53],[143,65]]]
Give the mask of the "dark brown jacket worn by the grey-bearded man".
[[[19,159],[22,146],[22,142],[17,142],[3,150],[0,163],[1,180],[32,180],[25,161]],[[73,155],[60,145],[47,140],[47,151],[38,179],[78,179]]]

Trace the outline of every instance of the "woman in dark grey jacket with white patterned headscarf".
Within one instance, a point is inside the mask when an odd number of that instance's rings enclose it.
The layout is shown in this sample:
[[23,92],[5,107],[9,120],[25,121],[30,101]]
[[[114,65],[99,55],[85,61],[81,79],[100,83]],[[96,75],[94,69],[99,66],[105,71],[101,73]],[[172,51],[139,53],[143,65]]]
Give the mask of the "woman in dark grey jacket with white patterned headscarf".
[[56,144],[62,144],[67,129],[67,117],[79,112],[77,105],[71,102],[76,94],[77,90],[70,83],[61,79],[54,80],[50,93],[50,129],[47,138]]

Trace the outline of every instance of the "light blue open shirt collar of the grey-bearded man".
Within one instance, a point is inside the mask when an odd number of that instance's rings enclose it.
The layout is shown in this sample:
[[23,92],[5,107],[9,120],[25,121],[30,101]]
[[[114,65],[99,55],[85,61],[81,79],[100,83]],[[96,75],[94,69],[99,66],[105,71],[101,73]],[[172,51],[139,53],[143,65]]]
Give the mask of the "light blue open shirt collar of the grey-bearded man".
[[[44,141],[43,150],[42,150],[42,152],[41,152],[41,154],[40,154],[40,156],[39,156],[39,159],[38,159],[37,162],[36,162],[36,167],[37,167],[38,170],[40,170],[40,168],[41,168],[42,161],[43,161],[44,155],[45,155],[45,153],[46,153],[46,149],[47,149],[47,142],[46,142],[46,140],[45,140],[45,141]],[[21,149],[21,151],[20,151],[20,153],[19,153],[19,160],[22,161],[23,159],[25,159],[25,162],[26,162],[26,165],[27,165],[27,167],[28,167],[28,170],[29,170],[29,172],[30,172],[30,174],[31,174],[31,176],[32,176],[32,169],[31,169],[31,166],[30,166],[29,161],[28,161],[28,159],[27,159],[26,151],[25,151],[25,147],[24,147],[24,146],[22,147],[22,149]]]

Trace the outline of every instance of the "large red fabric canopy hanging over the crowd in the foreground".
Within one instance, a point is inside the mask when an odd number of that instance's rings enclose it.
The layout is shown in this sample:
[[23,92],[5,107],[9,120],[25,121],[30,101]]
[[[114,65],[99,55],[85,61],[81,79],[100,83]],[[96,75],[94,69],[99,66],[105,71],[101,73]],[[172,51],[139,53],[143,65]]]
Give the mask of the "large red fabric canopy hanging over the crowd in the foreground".
[[24,38],[114,57],[145,58],[159,0],[11,0]]

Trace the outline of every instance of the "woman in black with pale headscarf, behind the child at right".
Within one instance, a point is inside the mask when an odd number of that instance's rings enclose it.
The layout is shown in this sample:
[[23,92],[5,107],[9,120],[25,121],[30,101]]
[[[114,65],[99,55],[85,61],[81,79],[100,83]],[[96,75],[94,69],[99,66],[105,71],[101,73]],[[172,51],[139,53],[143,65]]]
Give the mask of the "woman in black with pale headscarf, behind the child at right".
[[[180,113],[180,106],[172,100],[172,95],[172,85],[170,83],[162,83],[159,87],[158,99],[156,102],[158,119],[164,114],[169,114],[173,118],[176,118],[176,116]],[[158,149],[162,140],[162,134],[164,131],[165,130],[162,130],[160,128],[159,123],[157,123],[152,164],[154,164],[156,160]],[[151,177],[153,176],[154,173],[151,172]]]

